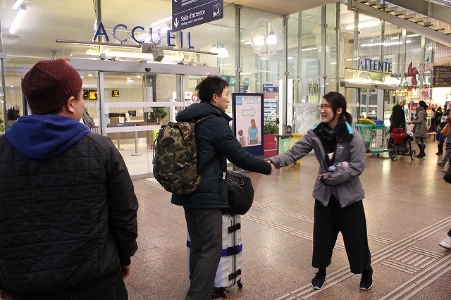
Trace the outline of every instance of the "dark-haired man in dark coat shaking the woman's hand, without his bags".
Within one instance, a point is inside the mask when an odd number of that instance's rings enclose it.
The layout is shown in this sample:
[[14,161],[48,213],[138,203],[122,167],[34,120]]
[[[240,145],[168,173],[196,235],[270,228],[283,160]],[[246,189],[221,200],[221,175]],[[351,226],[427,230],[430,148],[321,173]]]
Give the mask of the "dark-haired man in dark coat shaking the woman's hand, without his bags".
[[249,154],[233,135],[227,114],[228,82],[218,76],[205,77],[196,90],[199,103],[177,114],[177,122],[193,122],[209,115],[195,127],[197,170],[202,180],[191,194],[172,194],[171,202],[183,206],[190,234],[190,289],[186,300],[221,297],[214,289],[222,249],[222,208],[228,208],[226,159],[245,170],[269,175],[271,164]]

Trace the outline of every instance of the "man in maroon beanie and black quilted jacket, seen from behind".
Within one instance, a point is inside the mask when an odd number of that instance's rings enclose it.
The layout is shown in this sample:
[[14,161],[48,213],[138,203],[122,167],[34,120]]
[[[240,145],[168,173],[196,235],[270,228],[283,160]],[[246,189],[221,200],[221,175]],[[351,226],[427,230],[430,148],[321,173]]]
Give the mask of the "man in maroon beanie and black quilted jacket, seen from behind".
[[33,114],[0,136],[1,292],[128,299],[138,204],[121,154],[80,123],[82,79],[65,61],[36,63],[22,90]]

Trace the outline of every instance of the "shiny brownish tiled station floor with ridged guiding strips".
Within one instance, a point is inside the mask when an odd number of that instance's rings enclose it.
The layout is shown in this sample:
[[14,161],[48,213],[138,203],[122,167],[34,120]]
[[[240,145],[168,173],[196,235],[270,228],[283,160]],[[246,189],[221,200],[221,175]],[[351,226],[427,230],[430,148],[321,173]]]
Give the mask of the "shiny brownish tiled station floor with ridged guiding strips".
[[[247,173],[254,205],[242,216],[244,287],[227,299],[451,299],[451,251],[438,245],[451,227],[451,185],[436,167],[437,147],[411,161],[388,154],[366,159],[361,176],[374,269],[373,288],[359,289],[339,237],[324,288],[310,287],[314,200],[318,171],[314,156],[300,167],[271,176]],[[152,179],[134,180],[140,201],[138,244],[130,299],[184,299],[188,287],[183,208]]]

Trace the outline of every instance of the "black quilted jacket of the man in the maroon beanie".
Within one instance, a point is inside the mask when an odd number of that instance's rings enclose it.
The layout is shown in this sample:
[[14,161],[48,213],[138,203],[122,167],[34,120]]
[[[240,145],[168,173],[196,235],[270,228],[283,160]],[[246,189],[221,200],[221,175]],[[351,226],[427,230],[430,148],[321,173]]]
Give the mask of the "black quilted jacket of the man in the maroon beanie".
[[137,250],[137,208],[111,139],[87,134],[39,161],[1,136],[0,288],[67,299],[111,285]]

